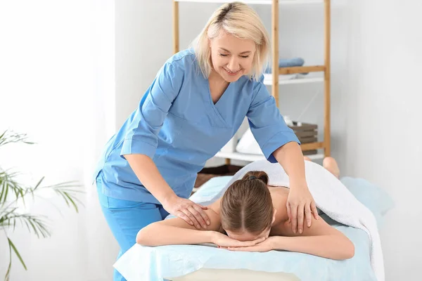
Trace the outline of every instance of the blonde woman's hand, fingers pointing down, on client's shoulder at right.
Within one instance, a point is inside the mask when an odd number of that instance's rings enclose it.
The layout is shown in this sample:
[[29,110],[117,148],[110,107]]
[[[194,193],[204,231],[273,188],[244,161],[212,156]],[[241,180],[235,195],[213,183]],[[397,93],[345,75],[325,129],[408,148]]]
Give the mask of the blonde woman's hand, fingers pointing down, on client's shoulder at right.
[[312,197],[306,184],[290,186],[286,207],[293,233],[299,232],[302,234],[304,219],[306,219],[308,227],[312,225],[312,213],[315,219],[319,218],[314,197]]

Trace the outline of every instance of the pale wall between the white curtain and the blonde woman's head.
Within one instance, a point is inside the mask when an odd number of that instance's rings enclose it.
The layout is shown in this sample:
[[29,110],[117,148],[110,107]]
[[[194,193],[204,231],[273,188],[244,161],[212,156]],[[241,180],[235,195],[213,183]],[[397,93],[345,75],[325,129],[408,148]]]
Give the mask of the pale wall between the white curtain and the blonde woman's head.
[[[180,46],[188,46],[216,4],[179,5]],[[195,8],[189,13],[188,8]],[[172,1],[115,1],[117,127],[139,105],[158,70],[173,53]]]

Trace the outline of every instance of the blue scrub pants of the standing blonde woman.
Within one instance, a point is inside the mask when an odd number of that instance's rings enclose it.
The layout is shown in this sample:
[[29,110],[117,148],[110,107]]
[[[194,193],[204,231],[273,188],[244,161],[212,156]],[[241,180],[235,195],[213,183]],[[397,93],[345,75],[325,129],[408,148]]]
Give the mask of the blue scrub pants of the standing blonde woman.
[[[158,204],[120,200],[104,195],[101,191],[104,184],[102,176],[100,173],[96,178],[98,198],[108,226],[119,243],[119,259],[136,243],[139,230],[155,221],[162,221],[168,213]],[[113,280],[125,281],[117,270],[114,270]]]

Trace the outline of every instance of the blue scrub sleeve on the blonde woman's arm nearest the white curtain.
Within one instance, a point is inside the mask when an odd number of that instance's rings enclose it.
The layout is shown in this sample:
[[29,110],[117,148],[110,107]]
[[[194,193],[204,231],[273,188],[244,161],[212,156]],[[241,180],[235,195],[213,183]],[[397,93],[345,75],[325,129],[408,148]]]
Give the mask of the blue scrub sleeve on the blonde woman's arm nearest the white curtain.
[[143,95],[138,108],[128,120],[120,156],[143,154],[155,155],[158,146],[158,133],[167,113],[180,91],[184,71],[172,63],[165,63],[159,70],[151,86]]

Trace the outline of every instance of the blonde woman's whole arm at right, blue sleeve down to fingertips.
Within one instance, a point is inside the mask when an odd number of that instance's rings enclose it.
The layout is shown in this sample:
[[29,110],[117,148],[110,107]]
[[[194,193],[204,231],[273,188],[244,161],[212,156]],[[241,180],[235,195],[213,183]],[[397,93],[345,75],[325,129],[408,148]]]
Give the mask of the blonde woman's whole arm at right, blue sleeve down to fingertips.
[[288,197],[289,216],[293,221],[293,230],[303,228],[304,218],[307,226],[312,224],[311,211],[318,218],[314,199],[307,188],[305,164],[300,148],[300,141],[293,129],[289,128],[280,114],[278,105],[262,83],[253,87],[252,102],[247,116],[250,129],[260,145],[265,158],[271,163],[279,162],[290,178]]

